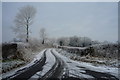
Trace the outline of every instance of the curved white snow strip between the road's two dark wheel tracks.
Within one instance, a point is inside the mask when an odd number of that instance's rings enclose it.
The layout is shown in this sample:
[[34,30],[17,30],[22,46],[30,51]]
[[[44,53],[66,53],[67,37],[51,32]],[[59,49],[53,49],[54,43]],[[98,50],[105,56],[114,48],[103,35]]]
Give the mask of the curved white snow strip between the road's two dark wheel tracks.
[[50,50],[51,49],[48,49],[46,51],[46,62],[45,62],[45,65],[43,66],[43,70],[34,74],[29,80],[31,80],[33,78],[37,79],[39,77],[44,76],[53,67],[56,59],[55,59],[54,55],[50,52]]

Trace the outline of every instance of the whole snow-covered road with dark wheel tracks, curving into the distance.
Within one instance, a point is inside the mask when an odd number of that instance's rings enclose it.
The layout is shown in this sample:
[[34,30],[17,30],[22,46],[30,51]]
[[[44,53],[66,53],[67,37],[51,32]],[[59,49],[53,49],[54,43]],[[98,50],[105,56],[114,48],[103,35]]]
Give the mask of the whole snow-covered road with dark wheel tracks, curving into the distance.
[[[39,57],[39,56],[38,56]],[[20,70],[19,70],[20,71]],[[48,78],[77,78],[82,80],[119,80],[118,69],[95,67],[87,63],[73,61],[57,52],[46,49],[41,59],[26,70],[5,79],[46,80]]]

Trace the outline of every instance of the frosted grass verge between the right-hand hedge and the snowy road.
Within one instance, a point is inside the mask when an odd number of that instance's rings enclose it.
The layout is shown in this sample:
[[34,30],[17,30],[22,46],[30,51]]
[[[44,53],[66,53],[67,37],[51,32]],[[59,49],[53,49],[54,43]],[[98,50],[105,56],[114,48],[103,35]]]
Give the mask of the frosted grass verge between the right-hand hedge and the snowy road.
[[92,57],[89,55],[80,56],[79,54],[69,53],[62,49],[57,49],[57,51],[60,54],[66,56],[72,60],[92,63],[92,65],[95,65],[95,66],[105,65],[105,66],[110,66],[110,67],[120,67],[120,63],[118,63],[118,59],[99,58],[99,57]]

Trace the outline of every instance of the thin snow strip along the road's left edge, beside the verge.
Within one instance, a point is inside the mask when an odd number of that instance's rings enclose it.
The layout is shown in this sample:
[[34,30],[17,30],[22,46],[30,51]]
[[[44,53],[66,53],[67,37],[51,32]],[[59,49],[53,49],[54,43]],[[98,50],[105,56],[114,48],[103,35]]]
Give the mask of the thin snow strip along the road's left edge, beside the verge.
[[11,71],[9,71],[9,72],[3,73],[3,74],[2,74],[2,78],[6,78],[6,77],[9,77],[9,76],[15,75],[16,73],[19,74],[19,72],[24,71],[25,69],[27,69],[27,68],[29,68],[30,66],[34,65],[37,61],[39,61],[39,60],[41,59],[44,51],[45,51],[45,50],[43,50],[43,51],[41,51],[40,53],[38,53],[38,54],[34,57],[34,59],[33,59],[30,63],[28,63],[27,65],[22,66],[22,67],[19,67],[19,68],[15,68],[15,69],[13,69],[13,70],[11,70]]

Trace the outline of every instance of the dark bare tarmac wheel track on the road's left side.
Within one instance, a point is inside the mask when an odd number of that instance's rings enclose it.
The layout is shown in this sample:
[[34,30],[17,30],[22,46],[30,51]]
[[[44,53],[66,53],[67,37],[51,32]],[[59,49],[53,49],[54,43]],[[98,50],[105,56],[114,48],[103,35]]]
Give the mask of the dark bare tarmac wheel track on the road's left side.
[[43,65],[45,65],[45,61],[46,61],[46,55],[45,55],[46,51],[47,50],[44,51],[42,58],[36,64],[32,65],[31,67],[19,73],[18,75],[15,75],[15,77],[10,76],[2,80],[28,80],[36,72],[41,71],[43,69],[42,67]]

